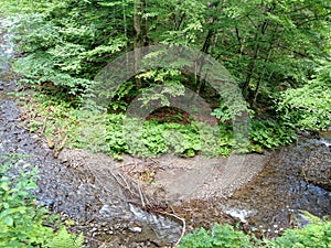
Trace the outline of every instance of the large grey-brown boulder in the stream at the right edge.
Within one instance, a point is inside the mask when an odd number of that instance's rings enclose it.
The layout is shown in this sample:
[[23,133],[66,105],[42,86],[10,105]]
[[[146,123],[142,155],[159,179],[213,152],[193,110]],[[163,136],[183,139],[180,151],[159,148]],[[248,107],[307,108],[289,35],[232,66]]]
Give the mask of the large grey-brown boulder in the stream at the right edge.
[[331,191],[330,147],[321,145],[305,161],[302,173],[308,182]]

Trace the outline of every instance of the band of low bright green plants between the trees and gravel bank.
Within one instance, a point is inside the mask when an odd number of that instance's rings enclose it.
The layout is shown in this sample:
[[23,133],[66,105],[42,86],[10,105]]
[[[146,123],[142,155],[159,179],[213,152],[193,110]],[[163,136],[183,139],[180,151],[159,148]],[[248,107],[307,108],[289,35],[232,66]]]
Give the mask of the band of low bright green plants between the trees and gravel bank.
[[[180,157],[227,157],[235,145],[228,117],[217,127],[196,123],[178,123],[150,119],[143,123],[126,119],[125,114],[89,112],[63,101],[56,95],[21,95],[24,106],[22,116],[31,132],[43,134],[55,155],[64,148],[82,148],[105,152],[115,159],[122,154],[159,157],[173,153]],[[225,118],[225,119],[224,119]],[[175,116],[175,119],[181,118]],[[204,133],[204,139],[201,139]],[[214,139],[214,137],[218,137]],[[263,152],[288,144],[296,139],[293,129],[279,126],[273,120],[252,120],[250,152]],[[205,143],[202,143],[204,140]]]

